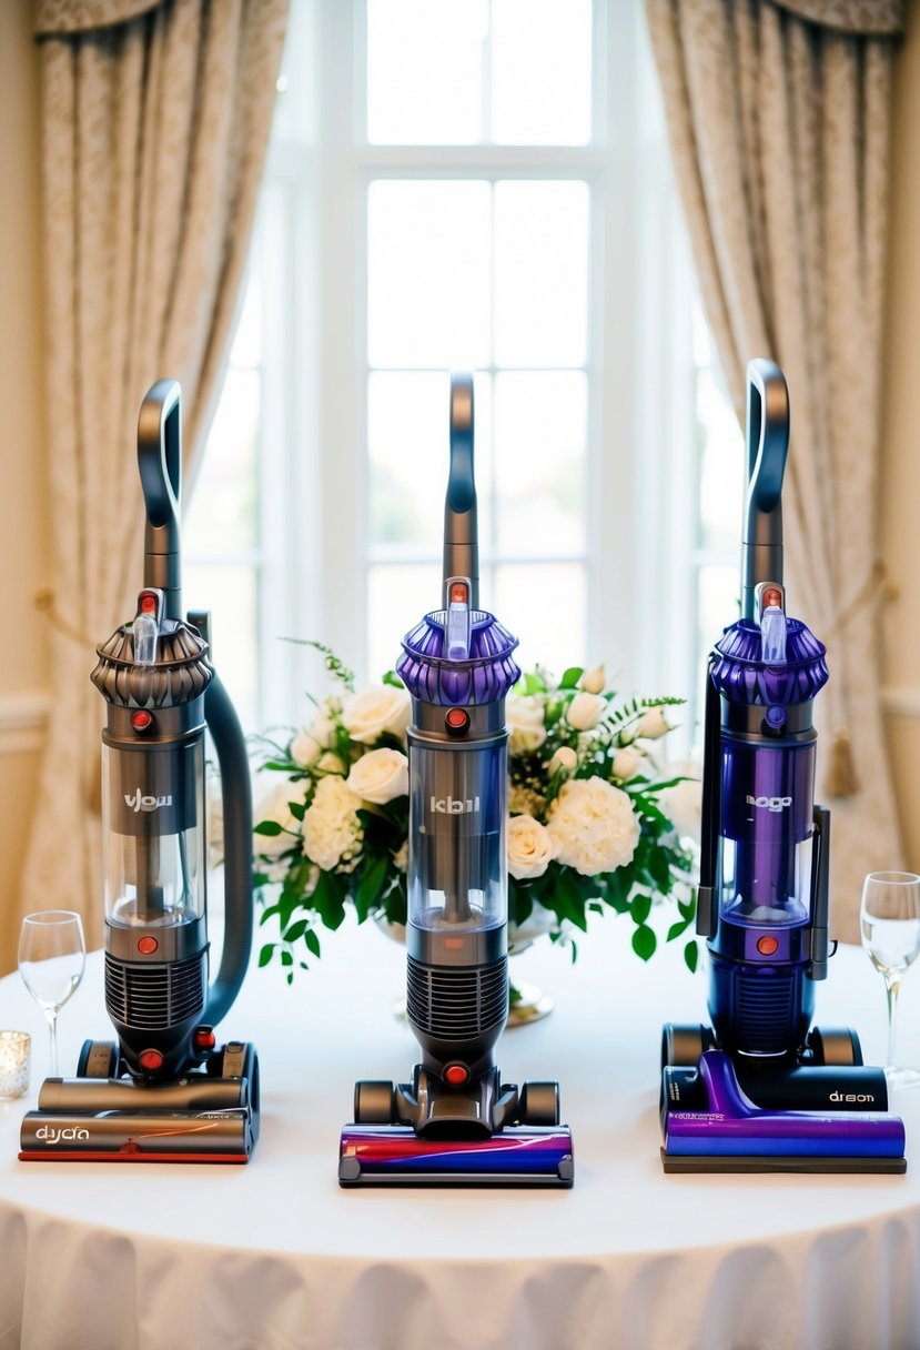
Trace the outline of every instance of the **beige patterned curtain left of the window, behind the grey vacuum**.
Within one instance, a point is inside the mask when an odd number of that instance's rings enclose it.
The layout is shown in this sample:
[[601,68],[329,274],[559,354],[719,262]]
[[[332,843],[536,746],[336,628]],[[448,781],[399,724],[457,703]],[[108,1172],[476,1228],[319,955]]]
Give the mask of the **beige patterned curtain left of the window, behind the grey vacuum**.
[[142,583],[140,401],[183,392],[186,477],[229,343],[287,0],[39,0],[53,709],[19,895],[101,937],[93,648]]

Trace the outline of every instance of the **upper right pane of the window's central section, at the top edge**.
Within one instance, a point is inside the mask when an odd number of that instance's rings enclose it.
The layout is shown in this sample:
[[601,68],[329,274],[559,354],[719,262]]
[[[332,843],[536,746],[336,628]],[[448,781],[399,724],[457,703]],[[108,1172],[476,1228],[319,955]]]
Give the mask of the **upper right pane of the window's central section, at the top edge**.
[[511,144],[591,139],[590,0],[494,0],[492,135]]

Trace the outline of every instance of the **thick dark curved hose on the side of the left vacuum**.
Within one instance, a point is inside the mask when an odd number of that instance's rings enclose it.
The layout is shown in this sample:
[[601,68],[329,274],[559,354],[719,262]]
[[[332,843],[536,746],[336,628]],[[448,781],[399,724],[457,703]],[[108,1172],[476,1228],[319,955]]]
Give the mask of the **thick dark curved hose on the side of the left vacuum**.
[[[192,617],[192,616],[189,616]],[[217,1026],[240,992],[252,950],[252,786],[246,737],[220,676],[205,693],[224,803],[224,950],[202,1021]]]

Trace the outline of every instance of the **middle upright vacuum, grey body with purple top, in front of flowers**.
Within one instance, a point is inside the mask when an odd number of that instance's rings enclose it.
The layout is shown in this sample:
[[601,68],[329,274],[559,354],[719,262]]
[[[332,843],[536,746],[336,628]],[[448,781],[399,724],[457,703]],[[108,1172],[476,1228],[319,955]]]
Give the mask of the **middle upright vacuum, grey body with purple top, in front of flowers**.
[[451,381],[444,603],[403,640],[409,729],[411,1083],[363,1081],[341,1134],[341,1185],[571,1187],[558,1084],[502,1077],[507,1021],[505,697],[517,639],[479,609],[473,386]]

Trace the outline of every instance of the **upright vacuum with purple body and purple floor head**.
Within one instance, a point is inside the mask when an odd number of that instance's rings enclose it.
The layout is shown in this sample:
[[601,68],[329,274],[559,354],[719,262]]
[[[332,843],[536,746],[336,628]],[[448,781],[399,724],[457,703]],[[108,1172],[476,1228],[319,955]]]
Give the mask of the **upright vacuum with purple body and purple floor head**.
[[786,614],[782,477],[789,396],[747,367],[742,617],[706,682],[696,927],[711,1026],[665,1026],[666,1172],[904,1172],[882,1069],[849,1027],[811,1027],[827,977],[830,811],[813,806],[812,703],[824,645]]

